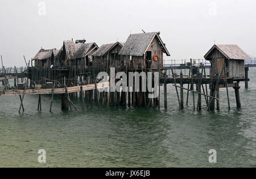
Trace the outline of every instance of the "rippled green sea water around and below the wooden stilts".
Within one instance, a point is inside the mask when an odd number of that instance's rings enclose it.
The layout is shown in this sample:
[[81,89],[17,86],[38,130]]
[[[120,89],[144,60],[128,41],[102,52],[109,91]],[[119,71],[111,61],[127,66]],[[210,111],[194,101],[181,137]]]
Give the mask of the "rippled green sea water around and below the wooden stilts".
[[[236,108],[234,90],[221,89],[220,112],[180,110],[175,88],[169,84],[168,109],[81,109],[61,111],[60,96],[0,97],[0,167],[256,167],[256,68],[250,68],[249,89],[241,83],[242,108]],[[2,87],[2,83],[0,84]],[[163,92],[163,87],[161,87]],[[196,95],[197,97],[197,95]],[[38,150],[46,150],[46,163],[38,162]],[[209,163],[209,150],[217,151],[217,163]]]

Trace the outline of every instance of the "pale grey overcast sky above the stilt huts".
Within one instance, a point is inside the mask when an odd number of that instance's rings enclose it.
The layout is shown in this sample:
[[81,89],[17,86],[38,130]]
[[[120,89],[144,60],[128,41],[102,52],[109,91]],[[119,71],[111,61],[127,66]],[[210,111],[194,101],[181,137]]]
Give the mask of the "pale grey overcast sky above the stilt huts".
[[42,47],[86,39],[99,46],[130,33],[160,31],[171,57],[203,58],[216,44],[237,44],[256,57],[255,0],[1,0],[0,54],[24,65]]

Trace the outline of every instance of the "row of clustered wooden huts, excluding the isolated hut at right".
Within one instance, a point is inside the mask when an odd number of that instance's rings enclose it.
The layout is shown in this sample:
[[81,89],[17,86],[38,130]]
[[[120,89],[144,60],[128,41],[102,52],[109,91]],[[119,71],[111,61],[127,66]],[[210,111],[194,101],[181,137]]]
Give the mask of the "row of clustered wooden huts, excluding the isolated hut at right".
[[166,45],[160,39],[159,32],[131,34],[126,43],[114,42],[101,45],[96,42],[87,43],[85,40],[64,41],[60,50],[40,49],[32,59],[34,66],[47,69],[51,67],[84,67],[85,69],[104,64],[105,67],[123,67],[130,69],[158,69],[158,62],[153,60],[159,57],[160,66],[163,67],[163,53],[170,56]]

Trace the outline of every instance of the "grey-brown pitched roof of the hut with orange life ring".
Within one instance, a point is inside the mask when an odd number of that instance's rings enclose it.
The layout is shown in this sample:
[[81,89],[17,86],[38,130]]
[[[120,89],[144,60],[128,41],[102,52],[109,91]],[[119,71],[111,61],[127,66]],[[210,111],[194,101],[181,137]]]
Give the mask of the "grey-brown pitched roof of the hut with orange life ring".
[[165,44],[156,32],[131,34],[119,54],[128,56],[143,56],[150,46],[151,41],[155,37],[162,47],[163,52],[166,53],[167,56],[170,56]]

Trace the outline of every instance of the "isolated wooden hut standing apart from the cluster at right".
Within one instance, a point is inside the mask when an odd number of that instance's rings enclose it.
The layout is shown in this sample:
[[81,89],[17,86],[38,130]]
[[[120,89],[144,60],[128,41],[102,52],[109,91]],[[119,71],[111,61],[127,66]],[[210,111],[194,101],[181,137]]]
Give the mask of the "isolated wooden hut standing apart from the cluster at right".
[[[211,74],[221,74],[226,65],[228,78],[245,78],[245,60],[251,59],[237,45],[213,45],[204,58],[211,63]],[[222,73],[222,77],[224,76]]]

